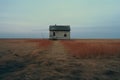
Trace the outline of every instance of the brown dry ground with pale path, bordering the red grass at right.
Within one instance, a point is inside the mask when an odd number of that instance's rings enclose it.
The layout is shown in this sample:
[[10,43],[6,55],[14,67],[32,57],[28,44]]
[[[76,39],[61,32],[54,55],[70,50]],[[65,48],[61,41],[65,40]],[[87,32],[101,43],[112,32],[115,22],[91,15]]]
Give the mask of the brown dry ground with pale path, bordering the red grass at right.
[[120,80],[118,56],[78,58],[59,40],[40,42],[1,39],[0,80]]

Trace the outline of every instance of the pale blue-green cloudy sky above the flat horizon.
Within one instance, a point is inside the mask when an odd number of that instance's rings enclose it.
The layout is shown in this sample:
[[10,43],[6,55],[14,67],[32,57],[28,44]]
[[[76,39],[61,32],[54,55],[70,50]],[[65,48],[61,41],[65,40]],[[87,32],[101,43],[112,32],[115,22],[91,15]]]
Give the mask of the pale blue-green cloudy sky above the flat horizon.
[[48,38],[49,25],[71,38],[120,38],[120,0],[0,0],[0,38]]

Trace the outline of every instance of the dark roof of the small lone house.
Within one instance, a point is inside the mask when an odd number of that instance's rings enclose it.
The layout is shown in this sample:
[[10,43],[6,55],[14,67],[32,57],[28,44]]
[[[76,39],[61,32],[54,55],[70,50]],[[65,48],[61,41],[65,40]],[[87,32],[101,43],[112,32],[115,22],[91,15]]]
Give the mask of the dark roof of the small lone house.
[[50,31],[70,31],[69,25],[50,25]]

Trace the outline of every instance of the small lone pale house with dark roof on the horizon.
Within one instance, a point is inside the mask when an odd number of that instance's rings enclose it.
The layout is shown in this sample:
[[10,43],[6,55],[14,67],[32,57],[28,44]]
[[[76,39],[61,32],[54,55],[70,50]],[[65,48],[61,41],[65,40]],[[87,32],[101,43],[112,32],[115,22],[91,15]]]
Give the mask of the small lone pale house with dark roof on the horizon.
[[49,39],[70,39],[69,25],[50,25]]

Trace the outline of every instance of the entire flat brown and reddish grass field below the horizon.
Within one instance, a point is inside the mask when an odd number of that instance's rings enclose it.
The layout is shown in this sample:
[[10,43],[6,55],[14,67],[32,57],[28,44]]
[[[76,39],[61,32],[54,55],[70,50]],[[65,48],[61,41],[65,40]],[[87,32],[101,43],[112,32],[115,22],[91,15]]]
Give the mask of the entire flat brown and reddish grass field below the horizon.
[[120,80],[120,39],[0,39],[0,80]]

